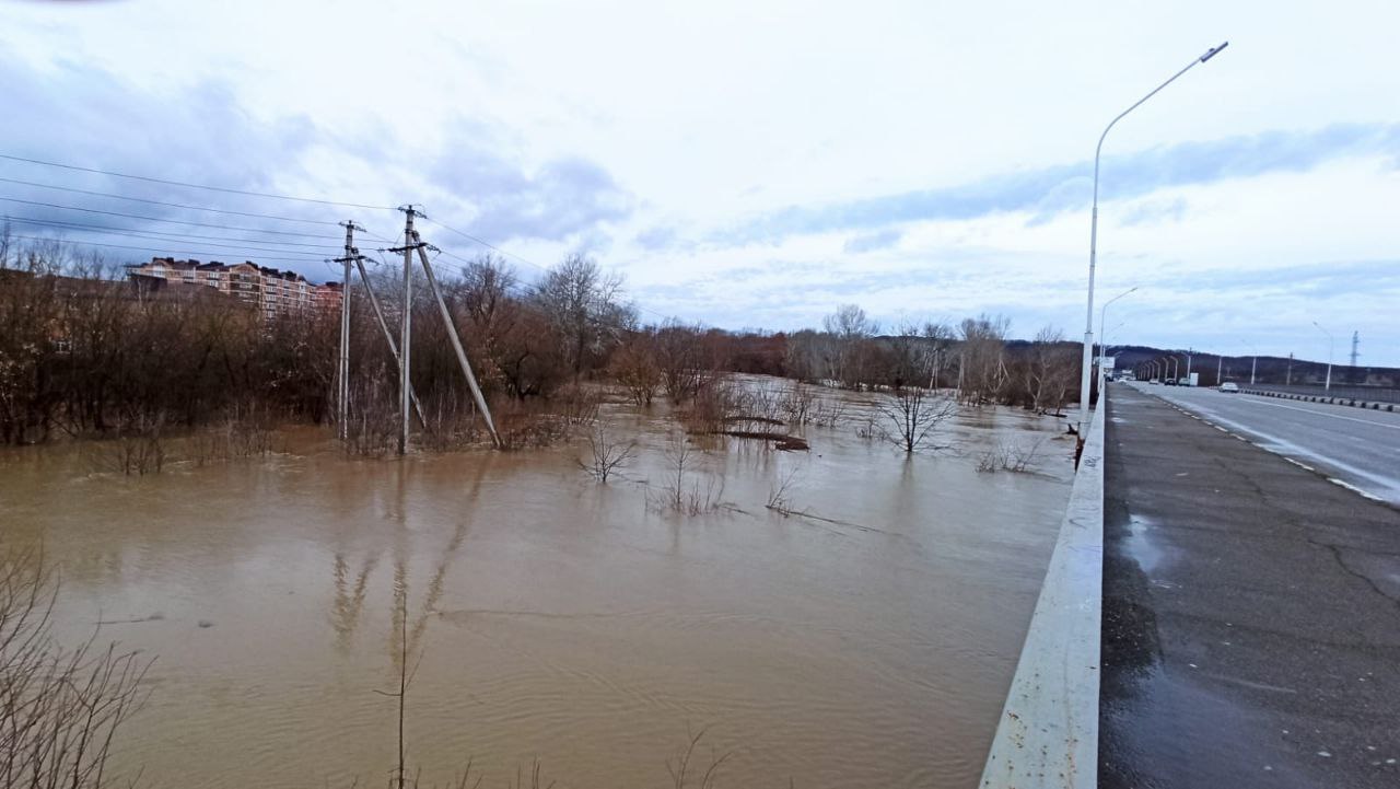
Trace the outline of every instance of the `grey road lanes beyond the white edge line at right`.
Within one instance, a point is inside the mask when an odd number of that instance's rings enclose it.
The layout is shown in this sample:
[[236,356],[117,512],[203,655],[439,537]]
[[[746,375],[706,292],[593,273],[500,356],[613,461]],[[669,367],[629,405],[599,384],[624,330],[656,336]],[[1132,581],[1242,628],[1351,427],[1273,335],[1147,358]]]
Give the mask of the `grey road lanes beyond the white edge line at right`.
[[1127,385],[1176,404],[1366,496],[1400,505],[1400,413],[1208,388]]

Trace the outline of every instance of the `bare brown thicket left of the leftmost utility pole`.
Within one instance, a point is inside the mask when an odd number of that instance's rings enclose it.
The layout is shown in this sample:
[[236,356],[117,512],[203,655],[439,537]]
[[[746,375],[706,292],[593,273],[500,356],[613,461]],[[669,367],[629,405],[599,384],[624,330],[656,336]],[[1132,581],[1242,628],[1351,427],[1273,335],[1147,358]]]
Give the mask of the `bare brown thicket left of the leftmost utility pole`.
[[326,416],[323,321],[272,325],[213,289],[141,291],[57,242],[0,258],[0,441],[196,426],[231,412]]

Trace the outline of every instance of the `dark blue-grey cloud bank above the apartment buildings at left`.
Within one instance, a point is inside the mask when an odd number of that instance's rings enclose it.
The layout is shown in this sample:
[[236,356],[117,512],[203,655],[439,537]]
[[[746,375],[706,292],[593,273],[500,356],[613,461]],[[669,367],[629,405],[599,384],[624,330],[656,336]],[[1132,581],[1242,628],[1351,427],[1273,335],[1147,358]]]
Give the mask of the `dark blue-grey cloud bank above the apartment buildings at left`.
[[[0,153],[234,191],[298,191],[308,177],[304,156],[318,137],[315,123],[305,116],[251,118],[239,109],[227,83],[197,81],[153,91],[71,60],[32,67],[3,50],[0,105],[7,114],[0,126]],[[11,179],[0,182],[0,198],[28,200],[0,200],[0,213],[14,217],[15,234],[109,244],[113,247],[98,248],[109,259],[129,262],[151,255],[253,259],[315,273],[323,272],[322,259],[333,256],[339,247],[339,228],[332,224],[322,228],[286,221],[343,219],[339,209],[328,206],[11,160],[3,163],[0,172]]]

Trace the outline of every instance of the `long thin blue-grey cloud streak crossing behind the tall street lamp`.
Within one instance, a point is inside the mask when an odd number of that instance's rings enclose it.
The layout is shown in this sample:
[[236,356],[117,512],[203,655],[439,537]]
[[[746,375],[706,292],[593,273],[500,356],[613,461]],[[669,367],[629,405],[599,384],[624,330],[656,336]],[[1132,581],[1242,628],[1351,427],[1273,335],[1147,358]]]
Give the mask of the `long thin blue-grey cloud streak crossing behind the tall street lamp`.
[[[1100,199],[1128,199],[1169,186],[1306,171],[1351,154],[1400,151],[1400,123],[1344,123],[1309,132],[1263,132],[1221,140],[1161,146],[1103,160]],[[1082,161],[995,175],[959,186],[865,198],[825,206],[788,206],[715,234],[748,244],[788,235],[868,230],[906,221],[965,220],[1028,212],[1030,223],[1084,209],[1092,196],[1093,163]]]

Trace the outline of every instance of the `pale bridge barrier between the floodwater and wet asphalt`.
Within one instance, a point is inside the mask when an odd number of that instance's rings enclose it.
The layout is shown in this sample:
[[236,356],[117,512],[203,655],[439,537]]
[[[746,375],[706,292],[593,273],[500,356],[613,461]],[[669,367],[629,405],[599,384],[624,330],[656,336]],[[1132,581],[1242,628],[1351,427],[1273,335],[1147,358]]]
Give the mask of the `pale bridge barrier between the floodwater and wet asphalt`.
[[1021,647],[981,772],[984,789],[1091,789],[1099,781],[1099,638],[1103,615],[1103,406]]

